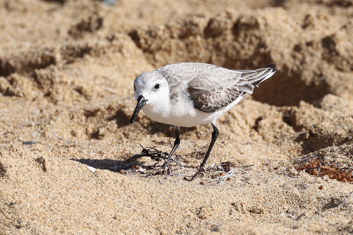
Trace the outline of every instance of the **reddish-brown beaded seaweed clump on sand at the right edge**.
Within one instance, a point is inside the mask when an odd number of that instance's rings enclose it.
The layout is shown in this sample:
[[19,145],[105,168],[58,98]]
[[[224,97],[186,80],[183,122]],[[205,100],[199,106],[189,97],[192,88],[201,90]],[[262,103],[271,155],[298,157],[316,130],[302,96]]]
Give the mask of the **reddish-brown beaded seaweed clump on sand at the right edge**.
[[341,182],[353,183],[352,168],[340,167],[340,163],[321,163],[320,160],[315,159],[309,164],[300,164],[297,167],[298,171],[305,170],[306,173],[314,176],[328,176],[330,179],[336,179]]

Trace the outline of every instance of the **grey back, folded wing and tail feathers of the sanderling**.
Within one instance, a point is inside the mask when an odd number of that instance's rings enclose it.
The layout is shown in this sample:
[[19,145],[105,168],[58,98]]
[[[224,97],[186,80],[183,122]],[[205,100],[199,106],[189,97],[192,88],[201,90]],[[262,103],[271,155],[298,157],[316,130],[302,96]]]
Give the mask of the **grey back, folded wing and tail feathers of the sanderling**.
[[166,78],[170,90],[173,90],[171,100],[178,97],[178,86],[186,87],[195,108],[213,113],[245,93],[252,94],[258,83],[274,73],[272,67],[229,70],[211,64],[179,63],[166,65],[157,71]]

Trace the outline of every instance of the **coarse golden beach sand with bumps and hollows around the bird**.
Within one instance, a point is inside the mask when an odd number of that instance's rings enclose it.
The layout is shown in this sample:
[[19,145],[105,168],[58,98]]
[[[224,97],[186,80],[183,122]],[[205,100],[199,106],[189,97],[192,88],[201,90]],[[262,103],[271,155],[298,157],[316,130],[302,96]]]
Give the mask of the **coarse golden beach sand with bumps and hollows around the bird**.
[[[1,0],[0,234],[353,233],[352,184],[296,170],[353,165],[352,38],[352,0]],[[171,150],[173,127],[129,121],[134,78],[178,62],[277,65],[218,120],[217,185],[125,161]],[[181,128],[173,173],[211,132]]]

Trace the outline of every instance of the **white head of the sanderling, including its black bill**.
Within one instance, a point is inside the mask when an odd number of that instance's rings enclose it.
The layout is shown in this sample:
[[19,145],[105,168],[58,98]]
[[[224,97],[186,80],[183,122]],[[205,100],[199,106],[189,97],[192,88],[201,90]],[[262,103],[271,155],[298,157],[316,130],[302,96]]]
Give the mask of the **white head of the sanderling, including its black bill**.
[[161,74],[155,71],[144,72],[134,81],[134,95],[137,105],[130,123],[135,121],[138,112],[144,106],[143,110],[163,108],[163,103],[169,100],[169,85]]

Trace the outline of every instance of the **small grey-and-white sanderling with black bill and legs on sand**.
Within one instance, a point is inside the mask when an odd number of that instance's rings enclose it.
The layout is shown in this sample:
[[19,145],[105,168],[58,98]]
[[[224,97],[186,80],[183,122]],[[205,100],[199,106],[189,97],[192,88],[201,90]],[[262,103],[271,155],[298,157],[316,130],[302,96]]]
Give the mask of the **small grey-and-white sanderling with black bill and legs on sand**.
[[201,169],[219,134],[216,120],[246,93],[252,94],[259,83],[271,77],[276,72],[275,66],[269,64],[256,70],[229,70],[212,64],[178,63],[143,72],[134,81],[137,105],[130,123],[142,109],[150,119],[174,125],[174,147],[162,169],[180,144],[179,127],[211,123],[212,139]]

